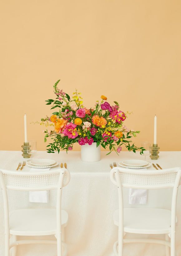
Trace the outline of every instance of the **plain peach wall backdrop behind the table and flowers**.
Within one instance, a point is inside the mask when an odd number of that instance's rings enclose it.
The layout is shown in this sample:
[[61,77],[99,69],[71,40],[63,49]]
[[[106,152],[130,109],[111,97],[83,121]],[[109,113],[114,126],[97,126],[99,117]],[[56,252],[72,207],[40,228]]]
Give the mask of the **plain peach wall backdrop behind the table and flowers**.
[[28,139],[46,149],[31,123],[54,112],[45,100],[58,79],[87,108],[103,94],[133,111],[137,146],[153,143],[156,114],[160,150],[181,150],[180,13],[178,0],[0,0],[0,150],[22,149],[25,113]]

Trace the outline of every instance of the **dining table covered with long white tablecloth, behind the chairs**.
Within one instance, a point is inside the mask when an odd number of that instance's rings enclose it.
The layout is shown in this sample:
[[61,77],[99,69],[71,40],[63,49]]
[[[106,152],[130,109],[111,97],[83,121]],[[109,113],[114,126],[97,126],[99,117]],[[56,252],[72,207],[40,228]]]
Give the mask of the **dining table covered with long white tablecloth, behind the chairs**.
[[[114,225],[113,213],[118,208],[118,195],[116,186],[110,181],[110,164],[113,162],[119,166],[123,160],[139,159],[144,156],[139,152],[101,151],[101,160],[98,162],[81,161],[80,151],[60,151],[58,154],[37,151],[33,158],[52,159],[58,165],[51,169],[61,168],[61,163],[66,163],[71,179],[62,191],[62,209],[69,215],[65,230],[65,242],[68,246],[67,256],[114,256],[113,244],[117,241],[118,227]],[[108,155],[107,155],[108,154]],[[23,158],[21,151],[0,151],[0,169],[14,172],[29,172],[29,158]],[[17,169],[18,164],[26,161],[26,165]],[[181,167],[181,151],[161,151],[159,158],[152,160],[148,156],[150,166],[148,170],[154,170],[153,163],[159,164],[163,169]],[[46,170],[45,170],[46,172]],[[125,207],[160,207],[169,208],[172,189],[149,190],[146,204],[129,204],[129,188],[124,188]],[[50,208],[56,206],[56,191],[49,192],[48,203],[35,203],[29,201],[29,192],[8,190],[10,210],[17,208]],[[181,189],[178,192],[177,202],[177,227],[176,250],[181,255]],[[126,234],[127,238],[132,234]],[[141,235],[137,235],[141,237]],[[142,235],[143,236],[143,235]],[[144,235],[145,236],[145,235]],[[150,237],[152,235],[147,235]],[[160,239],[162,235],[159,236]],[[164,237],[163,237],[164,238]],[[131,252],[131,254],[130,254]],[[125,244],[124,256],[164,256],[163,245],[156,244]],[[0,191],[0,256],[4,255],[4,224],[2,192]],[[55,245],[20,245],[17,256],[54,256]]]

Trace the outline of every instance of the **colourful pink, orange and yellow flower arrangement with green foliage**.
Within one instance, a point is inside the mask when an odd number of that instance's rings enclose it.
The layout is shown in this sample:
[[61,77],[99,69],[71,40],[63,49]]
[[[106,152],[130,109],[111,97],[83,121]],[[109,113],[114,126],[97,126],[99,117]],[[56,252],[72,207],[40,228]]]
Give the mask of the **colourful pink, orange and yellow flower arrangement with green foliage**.
[[[46,129],[45,142],[47,137],[52,138],[52,143],[47,146],[48,153],[54,153],[60,149],[72,150],[74,143],[80,145],[96,143],[97,147],[101,145],[103,148],[108,147],[109,153],[115,150],[119,153],[122,145],[129,151],[135,152],[143,148],[137,148],[134,144],[130,144],[130,138],[136,136],[139,131],[133,131],[124,125],[128,113],[119,110],[119,103],[114,101],[114,105],[110,105],[107,98],[102,95],[101,101],[95,102],[92,108],[86,108],[83,105],[81,93],[73,93],[70,96],[57,88],[58,80],[54,85],[54,93],[56,99],[46,100],[47,105],[52,105],[51,109],[57,109],[50,117],[42,118],[41,124],[50,126],[52,129]],[[37,123],[37,122],[36,122]],[[109,154],[108,153],[108,154]]]

